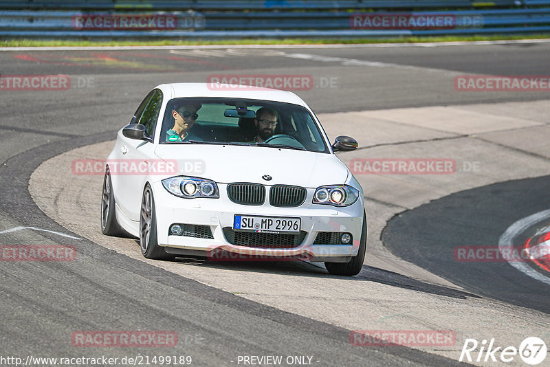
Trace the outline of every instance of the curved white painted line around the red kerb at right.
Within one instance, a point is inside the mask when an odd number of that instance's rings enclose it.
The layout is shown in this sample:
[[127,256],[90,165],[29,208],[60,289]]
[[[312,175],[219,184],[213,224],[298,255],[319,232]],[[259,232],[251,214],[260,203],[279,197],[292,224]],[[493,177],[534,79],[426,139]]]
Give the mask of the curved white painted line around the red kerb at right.
[[[514,238],[516,238],[518,234],[527,230],[527,228],[531,227],[531,225],[537,223],[538,221],[542,221],[547,218],[550,218],[550,209],[527,216],[510,225],[506,232],[504,232],[498,240],[498,248],[500,249],[500,252],[504,253],[505,248],[512,246],[514,243]],[[531,267],[527,266],[527,264],[514,261],[508,261],[508,263],[509,265],[521,271],[523,274],[530,276],[531,278],[536,279],[539,282],[550,285],[550,278],[540,274],[534,269],[531,269]]]

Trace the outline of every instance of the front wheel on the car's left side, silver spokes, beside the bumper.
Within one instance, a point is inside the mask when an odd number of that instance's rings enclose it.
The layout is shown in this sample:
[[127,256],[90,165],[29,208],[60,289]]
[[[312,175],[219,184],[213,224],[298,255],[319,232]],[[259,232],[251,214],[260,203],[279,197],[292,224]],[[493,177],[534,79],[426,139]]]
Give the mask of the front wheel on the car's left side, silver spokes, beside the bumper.
[[167,254],[164,247],[157,242],[157,219],[155,216],[155,199],[153,190],[147,184],[143,191],[142,210],[140,215],[140,247],[146,258],[153,260],[170,260],[175,256]]

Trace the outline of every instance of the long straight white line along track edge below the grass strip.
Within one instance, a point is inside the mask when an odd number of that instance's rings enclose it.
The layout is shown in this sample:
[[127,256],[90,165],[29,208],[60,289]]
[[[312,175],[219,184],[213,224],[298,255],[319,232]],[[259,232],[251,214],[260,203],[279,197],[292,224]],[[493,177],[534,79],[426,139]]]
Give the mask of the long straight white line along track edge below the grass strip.
[[519,39],[500,41],[457,41],[457,42],[419,42],[419,43],[360,43],[354,45],[166,45],[166,46],[60,46],[60,47],[0,47],[0,51],[118,51],[124,49],[235,49],[235,48],[371,48],[371,47],[440,47],[471,45],[514,45],[518,43],[550,43],[550,39]]

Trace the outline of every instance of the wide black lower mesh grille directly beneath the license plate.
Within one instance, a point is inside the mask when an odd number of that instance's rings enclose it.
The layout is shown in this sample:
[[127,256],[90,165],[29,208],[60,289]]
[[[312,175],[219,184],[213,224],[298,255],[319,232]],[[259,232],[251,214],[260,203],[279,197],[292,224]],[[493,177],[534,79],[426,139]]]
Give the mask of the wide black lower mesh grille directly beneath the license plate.
[[302,244],[306,232],[298,234],[273,234],[234,231],[231,227],[223,228],[225,239],[236,246],[259,247],[262,249],[294,249]]

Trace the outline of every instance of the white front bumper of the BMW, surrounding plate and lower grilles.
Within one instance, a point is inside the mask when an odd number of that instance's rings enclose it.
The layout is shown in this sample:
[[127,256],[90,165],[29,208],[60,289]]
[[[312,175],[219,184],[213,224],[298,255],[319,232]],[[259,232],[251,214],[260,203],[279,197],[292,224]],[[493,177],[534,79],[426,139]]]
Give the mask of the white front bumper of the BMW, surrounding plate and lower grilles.
[[[162,186],[161,182],[153,183],[155,195],[155,212],[157,218],[157,238],[160,246],[167,247],[174,254],[192,254],[212,257],[220,252],[239,254],[228,256],[228,259],[253,259],[256,256],[273,258],[303,258],[311,262],[330,261],[347,262],[359,251],[362,231],[364,206],[362,198],[353,205],[336,208],[331,205],[314,205],[314,189],[307,189],[305,202],[296,208],[278,208],[271,206],[269,200],[263,205],[241,205],[230,201],[226,185],[219,183],[219,199],[184,199],[175,197]],[[303,240],[298,245],[270,248],[269,245],[234,245],[224,234],[233,224],[234,214],[257,216],[299,217],[300,230],[305,232]],[[212,238],[195,238],[192,236],[175,236],[169,234],[174,223],[208,226]],[[352,241],[348,245],[334,243],[318,243],[319,232],[347,232]],[[212,256],[214,255],[214,256]]]

